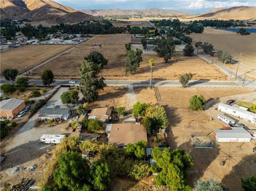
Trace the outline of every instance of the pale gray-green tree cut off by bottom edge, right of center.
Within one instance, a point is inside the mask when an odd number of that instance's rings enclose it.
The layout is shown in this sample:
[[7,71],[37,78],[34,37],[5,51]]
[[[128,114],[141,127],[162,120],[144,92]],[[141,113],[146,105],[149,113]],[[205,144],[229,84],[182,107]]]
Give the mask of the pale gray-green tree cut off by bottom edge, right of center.
[[214,181],[213,179],[209,179],[206,181],[202,179],[197,180],[195,184],[195,190],[196,191],[206,191],[206,190],[225,191],[225,189],[223,189],[222,186],[220,185],[220,182]]

